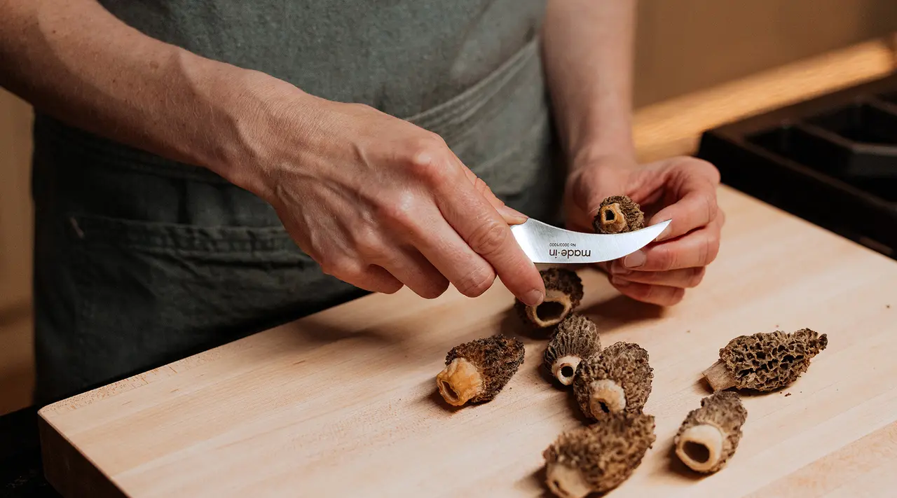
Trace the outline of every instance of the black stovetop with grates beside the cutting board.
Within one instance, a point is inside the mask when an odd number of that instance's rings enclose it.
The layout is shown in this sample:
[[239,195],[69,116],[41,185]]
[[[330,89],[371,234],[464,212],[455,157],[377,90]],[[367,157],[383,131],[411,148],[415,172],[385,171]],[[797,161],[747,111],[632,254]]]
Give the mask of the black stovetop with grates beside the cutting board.
[[897,74],[706,131],[723,183],[897,259]]

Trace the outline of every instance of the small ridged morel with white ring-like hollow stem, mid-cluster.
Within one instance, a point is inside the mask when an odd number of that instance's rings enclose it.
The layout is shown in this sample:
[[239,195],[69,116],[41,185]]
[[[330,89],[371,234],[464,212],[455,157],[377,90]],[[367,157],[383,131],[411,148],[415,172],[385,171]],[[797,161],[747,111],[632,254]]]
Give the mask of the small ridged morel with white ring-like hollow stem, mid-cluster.
[[573,383],[573,374],[584,358],[601,349],[595,322],[573,313],[554,329],[544,353],[544,367],[563,385]]

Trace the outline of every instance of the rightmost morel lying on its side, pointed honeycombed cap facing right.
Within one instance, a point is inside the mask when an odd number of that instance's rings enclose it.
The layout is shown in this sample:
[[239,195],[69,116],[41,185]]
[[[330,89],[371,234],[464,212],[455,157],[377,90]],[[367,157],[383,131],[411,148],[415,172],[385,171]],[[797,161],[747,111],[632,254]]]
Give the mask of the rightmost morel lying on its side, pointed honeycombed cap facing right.
[[713,390],[771,391],[791,384],[825,349],[829,339],[809,328],[738,336],[719,350],[719,361],[704,371]]

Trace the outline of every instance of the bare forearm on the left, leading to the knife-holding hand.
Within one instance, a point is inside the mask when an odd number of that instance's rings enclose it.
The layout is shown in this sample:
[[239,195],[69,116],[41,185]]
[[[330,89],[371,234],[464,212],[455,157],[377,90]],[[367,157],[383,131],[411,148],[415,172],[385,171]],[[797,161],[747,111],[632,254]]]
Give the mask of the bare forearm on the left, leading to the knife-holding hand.
[[0,12],[0,85],[75,127],[249,182],[238,165],[265,75],[147,37],[93,0],[0,0]]

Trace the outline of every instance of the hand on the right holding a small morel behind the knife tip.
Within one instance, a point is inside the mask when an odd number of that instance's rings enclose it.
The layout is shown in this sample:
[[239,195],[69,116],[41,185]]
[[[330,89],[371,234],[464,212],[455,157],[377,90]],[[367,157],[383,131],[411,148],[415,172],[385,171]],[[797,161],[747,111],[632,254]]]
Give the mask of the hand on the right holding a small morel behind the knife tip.
[[701,283],[719,250],[725,215],[717,205],[719,172],[709,162],[675,157],[638,165],[607,157],[571,170],[565,208],[570,230],[595,232],[592,220],[605,197],[627,195],[640,204],[646,226],[672,219],[658,239],[625,258],[599,266],[611,284],[638,301],[672,306]]

